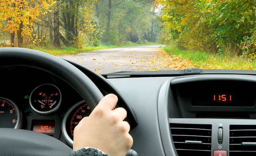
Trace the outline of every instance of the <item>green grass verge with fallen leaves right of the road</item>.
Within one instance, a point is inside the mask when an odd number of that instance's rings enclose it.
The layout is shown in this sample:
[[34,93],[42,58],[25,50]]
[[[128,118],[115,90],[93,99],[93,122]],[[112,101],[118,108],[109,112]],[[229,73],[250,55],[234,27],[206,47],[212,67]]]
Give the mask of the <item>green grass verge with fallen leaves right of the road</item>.
[[248,57],[241,57],[232,53],[206,53],[204,51],[180,50],[170,44],[161,47],[171,56],[182,56],[200,69],[256,69],[256,63]]

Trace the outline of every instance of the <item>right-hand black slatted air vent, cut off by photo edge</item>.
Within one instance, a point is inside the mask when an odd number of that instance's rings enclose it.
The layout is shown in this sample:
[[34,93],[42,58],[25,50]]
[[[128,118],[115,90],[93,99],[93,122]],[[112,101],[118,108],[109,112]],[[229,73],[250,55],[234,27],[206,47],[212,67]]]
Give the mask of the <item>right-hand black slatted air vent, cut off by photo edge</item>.
[[256,125],[230,125],[230,156],[256,156]]

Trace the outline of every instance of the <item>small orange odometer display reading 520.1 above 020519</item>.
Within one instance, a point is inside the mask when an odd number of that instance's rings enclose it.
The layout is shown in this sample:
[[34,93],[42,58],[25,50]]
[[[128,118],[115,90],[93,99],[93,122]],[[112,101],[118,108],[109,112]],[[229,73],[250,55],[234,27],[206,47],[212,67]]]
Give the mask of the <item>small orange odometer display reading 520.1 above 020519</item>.
[[33,122],[33,131],[39,133],[54,133],[55,121],[54,120],[37,120]]

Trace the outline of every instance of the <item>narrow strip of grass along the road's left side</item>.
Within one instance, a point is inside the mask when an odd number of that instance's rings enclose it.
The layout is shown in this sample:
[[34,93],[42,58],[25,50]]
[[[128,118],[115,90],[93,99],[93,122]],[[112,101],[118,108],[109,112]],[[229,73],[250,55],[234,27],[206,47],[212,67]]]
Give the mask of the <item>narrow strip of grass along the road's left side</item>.
[[146,43],[146,44],[128,44],[128,45],[99,45],[97,47],[94,46],[84,46],[81,49],[77,49],[75,47],[66,47],[63,46],[61,48],[56,48],[56,47],[43,47],[43,46],[33,46],[33,47],[29,47],[30,49],[35,49],[35,50],[39,50],[39,51],[43,51],[45,53],[50,53],[52,55],[74,55],[76,53],[82,53],[82,52],[86,52],[86,51],[94,51],[94,50],[98,50],[98,49],[108,49],[108,48],[116,48],[116,47],[128,47],[128,46],[135,46],[135,45],[152,45],[152,44],[156,44],[156,43]]

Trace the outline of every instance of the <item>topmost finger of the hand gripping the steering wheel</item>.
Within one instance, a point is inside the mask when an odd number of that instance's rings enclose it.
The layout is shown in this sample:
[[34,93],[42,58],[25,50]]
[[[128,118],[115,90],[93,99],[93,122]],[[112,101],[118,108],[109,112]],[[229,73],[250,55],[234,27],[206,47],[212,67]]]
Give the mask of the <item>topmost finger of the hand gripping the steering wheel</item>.
[[116,95],[108,94],[100,100],[99,104],[95,107],[95,109],[101,107],[104,109],[113,110],[116,107],[117,101],[118,98]]

